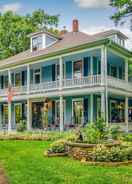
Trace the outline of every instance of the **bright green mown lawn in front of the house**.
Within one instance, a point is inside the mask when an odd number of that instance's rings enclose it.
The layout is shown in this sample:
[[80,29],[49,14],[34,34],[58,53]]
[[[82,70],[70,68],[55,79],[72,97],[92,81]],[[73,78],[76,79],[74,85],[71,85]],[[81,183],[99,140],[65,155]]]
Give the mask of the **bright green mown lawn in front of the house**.
[[10,184],[132,184],[132,166],[81,165],[70,158],[46,158],[48,142],[1,141],[0,163]]

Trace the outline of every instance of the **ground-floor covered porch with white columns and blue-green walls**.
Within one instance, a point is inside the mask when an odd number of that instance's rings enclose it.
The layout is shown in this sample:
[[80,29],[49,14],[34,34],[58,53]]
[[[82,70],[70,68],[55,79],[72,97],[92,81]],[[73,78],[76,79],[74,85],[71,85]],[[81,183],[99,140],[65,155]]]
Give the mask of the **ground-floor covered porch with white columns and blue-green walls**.
[[[45,98],[0,104],[0,129],[16,130],[25,121],[27,130],[44,129],[43,107]],[[106,108],[107,107],[107,108]],[[118,124],[131,128],[132,99],[104,92],[78,96],[48,98],[47,130],[68,130],[103,118],[108,125]]]

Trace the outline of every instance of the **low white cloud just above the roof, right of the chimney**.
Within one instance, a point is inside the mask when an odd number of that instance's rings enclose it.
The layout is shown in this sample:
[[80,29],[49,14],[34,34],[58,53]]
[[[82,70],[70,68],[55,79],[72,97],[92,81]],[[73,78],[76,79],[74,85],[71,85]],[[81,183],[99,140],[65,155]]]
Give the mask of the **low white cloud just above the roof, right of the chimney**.
[[125,27],[114,27],[114,26],[91,26],[88,28],[82,28],[82,32],[85,32],[87,34],[95,34],[98,32],[102,32],[102,31],[107,31],[110,29],[117,29],[119,31],[121,31],[122,33],[124,33],[127,37],[128,40],[126,41],[126,48],[132,51],[132,32],[130,31],[129,28],[125,28]]

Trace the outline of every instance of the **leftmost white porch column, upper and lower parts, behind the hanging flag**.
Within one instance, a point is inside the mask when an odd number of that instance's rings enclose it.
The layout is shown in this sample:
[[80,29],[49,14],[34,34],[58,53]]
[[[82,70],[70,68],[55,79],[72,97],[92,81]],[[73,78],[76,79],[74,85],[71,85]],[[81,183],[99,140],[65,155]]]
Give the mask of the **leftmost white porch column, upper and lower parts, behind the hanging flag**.
[[[11,71],[8,70],[8,83],[11,86]],[[9,87],[10,87],[9,86]],[[8,100],[8,131],[11,131],[12,129],[12,109],[11,109],[11,101]]]

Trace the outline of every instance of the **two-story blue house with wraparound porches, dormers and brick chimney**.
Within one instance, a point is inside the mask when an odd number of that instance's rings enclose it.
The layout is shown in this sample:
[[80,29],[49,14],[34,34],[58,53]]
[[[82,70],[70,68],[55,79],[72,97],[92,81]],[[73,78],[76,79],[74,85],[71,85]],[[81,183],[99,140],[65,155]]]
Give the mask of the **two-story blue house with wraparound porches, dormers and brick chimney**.
[[[0,127],[42,128],[42,108],[48,98],[49,129],[61,131],[96,121],[132,125],[132,84],[127,37],[116,30],[94,35],[79,31],[56,36],[47,31],[30,36],[31,48],[0,61]],[[13,94],[9,100],[9,94]]]

